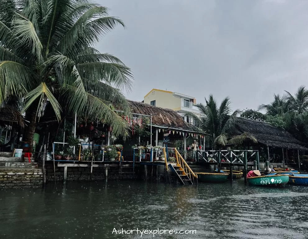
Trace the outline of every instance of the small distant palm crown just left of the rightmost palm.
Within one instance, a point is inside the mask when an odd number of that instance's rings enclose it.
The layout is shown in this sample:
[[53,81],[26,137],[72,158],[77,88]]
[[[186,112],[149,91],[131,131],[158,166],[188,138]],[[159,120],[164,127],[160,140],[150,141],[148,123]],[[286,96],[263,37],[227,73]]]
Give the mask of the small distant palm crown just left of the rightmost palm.
[[289,110],[289,101],[287,96],[274,94],[274,101],[267,105],[260,105],[258,110],[265,110],[267,115],[283,115]]

